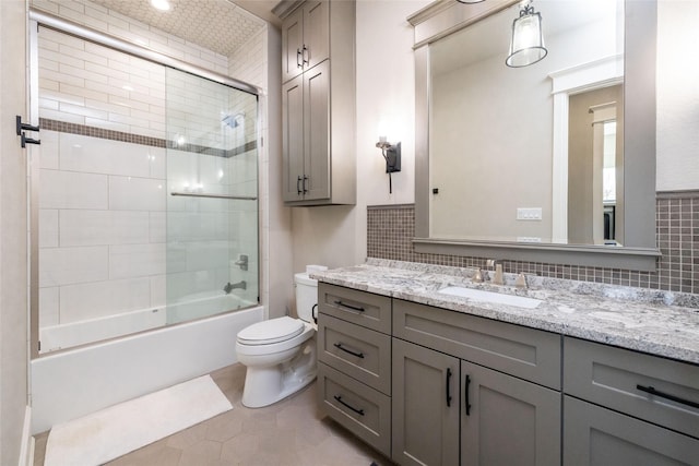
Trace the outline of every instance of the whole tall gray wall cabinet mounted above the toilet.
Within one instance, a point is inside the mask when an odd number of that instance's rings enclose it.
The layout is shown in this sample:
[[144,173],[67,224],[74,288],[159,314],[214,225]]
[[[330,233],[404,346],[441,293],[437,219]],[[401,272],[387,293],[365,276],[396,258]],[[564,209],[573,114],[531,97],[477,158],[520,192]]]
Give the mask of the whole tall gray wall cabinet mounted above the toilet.
[[355,204],[355,3],[282,2],[282,195]]

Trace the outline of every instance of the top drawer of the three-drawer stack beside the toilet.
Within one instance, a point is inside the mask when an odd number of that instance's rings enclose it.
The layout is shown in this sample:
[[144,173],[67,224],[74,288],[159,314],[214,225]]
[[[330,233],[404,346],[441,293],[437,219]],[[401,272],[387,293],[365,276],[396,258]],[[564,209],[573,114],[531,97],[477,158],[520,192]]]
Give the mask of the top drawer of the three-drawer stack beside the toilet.
[[318,285],[321,313],[386,334],[391,333],[391,298],[321,283]]

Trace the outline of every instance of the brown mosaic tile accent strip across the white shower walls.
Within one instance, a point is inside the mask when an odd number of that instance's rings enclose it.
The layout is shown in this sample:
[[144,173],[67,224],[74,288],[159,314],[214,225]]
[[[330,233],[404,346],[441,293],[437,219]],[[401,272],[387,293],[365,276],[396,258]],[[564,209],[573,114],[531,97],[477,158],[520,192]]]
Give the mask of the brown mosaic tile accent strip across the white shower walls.
[[241,146],[229,150],[206,147],[197,144],[182,144],[176,146],[171,141],[167,141],[161,138],[144,136],[140,134],[127,133],[123,131],[106,130],[103,128],[88,127],[85,124],[68,123],[49,118],[39,118],[39,128],[43,130],[56,131],[60,133],[80,134],[90,138],[121,141],[127,143],[141,144],[150,147],[166,147],[182,152],[193,152],[196,154],[206,154],[224,158],[235,157],[236,155],[244,154],[248,151],[253,151],[258,146],[257,141],[250,141]]

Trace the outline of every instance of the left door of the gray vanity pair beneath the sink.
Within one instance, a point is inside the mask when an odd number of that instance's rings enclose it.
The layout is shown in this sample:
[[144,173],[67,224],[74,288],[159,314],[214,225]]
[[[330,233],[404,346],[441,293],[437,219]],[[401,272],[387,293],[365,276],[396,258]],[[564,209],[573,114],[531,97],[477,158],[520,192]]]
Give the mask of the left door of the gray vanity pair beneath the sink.
[[459,464],[459,359],[393,338],[392,384],[392,459]]

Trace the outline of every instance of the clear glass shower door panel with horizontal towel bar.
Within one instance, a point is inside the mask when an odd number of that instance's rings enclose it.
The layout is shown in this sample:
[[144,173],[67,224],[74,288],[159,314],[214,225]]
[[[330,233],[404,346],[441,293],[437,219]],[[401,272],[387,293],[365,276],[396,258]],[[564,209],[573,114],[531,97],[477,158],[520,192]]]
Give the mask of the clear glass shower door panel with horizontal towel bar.
[[166,70],[167,323],[256,306],[258,98]]

